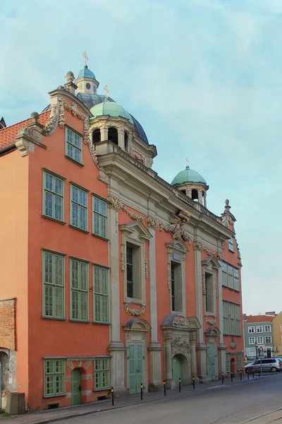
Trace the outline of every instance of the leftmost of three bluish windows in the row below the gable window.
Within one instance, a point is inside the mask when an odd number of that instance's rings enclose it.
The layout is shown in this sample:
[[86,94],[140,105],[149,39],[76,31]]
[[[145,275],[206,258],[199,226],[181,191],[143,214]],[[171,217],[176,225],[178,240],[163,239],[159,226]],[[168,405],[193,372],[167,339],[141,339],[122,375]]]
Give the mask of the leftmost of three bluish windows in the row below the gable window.
[[43,215],[63,221],[63,178],[44,171]]

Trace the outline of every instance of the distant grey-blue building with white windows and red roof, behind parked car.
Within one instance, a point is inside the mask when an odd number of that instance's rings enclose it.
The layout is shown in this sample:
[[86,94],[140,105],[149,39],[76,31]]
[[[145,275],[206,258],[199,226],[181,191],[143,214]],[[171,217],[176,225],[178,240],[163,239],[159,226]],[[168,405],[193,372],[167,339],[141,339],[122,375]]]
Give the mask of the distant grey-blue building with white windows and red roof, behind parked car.
[[274,333],[272,322],[275,312],[265,315],[243,315],[245,356],[247,360],[274,356]]

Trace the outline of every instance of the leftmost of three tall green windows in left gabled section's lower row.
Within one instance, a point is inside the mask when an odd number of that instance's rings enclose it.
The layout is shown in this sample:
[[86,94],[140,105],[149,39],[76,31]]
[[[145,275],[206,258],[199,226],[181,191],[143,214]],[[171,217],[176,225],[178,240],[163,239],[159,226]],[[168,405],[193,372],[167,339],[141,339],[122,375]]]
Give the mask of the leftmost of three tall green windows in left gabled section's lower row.
[[43,252],[43,315],[44,317],[64,317],[65,281],[63,256]]

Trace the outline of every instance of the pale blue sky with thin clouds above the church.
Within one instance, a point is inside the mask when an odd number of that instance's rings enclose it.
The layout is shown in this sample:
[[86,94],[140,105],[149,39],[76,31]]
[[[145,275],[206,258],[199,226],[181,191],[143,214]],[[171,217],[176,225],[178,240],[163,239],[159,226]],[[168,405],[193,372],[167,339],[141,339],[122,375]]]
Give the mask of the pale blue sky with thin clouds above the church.
[[89,57],[102,88],[157,146],[153,169],[185,168],[229,199],[243,311],[280,312],[281,0],[10,0],[1,3],[0,118],[42,112]]

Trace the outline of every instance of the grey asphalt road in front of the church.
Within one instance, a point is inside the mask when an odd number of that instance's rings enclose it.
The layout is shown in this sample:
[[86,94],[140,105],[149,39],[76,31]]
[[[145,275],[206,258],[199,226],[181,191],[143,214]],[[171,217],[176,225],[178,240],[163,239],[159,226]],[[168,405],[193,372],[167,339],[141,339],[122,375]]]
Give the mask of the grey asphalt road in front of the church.
[[[162,399],[57,424],[243,424],[282,408],[282,372],[260,380],[211,387],[207,391]],[[281,413],[282,415],[282,413]]]

